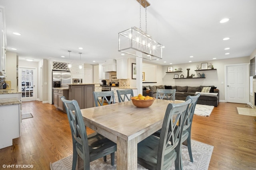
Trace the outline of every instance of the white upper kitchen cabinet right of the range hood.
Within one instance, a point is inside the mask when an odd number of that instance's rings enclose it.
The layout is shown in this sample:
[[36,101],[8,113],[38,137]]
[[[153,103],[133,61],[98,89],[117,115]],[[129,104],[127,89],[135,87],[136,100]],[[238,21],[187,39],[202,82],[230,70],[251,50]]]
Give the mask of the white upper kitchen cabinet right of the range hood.
[[128,79],[127,58],[116,59],[116,78]]

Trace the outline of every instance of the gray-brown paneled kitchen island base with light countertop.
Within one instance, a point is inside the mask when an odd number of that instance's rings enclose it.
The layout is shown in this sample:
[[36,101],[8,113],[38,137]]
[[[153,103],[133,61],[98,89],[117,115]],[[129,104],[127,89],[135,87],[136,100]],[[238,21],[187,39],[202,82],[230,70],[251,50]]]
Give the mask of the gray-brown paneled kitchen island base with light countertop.
[[94,107],[94,84],[69,84],[69,100],[76,100],[80,109]]

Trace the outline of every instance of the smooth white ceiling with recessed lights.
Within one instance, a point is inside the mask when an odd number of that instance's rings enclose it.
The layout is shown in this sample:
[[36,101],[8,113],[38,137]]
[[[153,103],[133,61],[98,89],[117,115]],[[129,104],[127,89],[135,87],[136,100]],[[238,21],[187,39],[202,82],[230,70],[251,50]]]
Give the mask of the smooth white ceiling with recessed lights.
[[[148,1],[147,33],[165,46],[163,59],[153,63],[246,57],[256,49],[256,0]],[[0,0],[0,5],[5,7],[7,51],[20,60],[69,60],[68,50],[70,60],[80,61],[81,52],[88,64],[120,58],[118,33],[140,27],[136,0]],[[141,14],[146,31],[144,8]],[[220,23],[223,18],[230,20]]]

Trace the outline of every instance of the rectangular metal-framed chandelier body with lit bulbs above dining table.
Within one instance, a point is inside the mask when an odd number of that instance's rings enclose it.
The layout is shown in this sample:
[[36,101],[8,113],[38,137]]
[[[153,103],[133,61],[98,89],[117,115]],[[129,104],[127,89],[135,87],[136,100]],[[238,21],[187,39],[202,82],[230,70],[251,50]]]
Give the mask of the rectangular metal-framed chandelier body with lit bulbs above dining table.
[[162,44],[137,27],[119,33],[118,51],[147,60],[162,59]]

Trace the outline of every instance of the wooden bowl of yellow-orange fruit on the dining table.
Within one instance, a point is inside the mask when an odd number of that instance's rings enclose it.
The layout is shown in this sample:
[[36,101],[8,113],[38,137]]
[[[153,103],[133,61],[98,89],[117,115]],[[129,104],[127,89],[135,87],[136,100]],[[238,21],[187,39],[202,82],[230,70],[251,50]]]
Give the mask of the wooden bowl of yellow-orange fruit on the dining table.
[[139,94],[138,96],[131,97],[131,100],[134,106],[145,108],[151,106],[156,98],[152,98],[150,96],[142,96],[142,94]]

